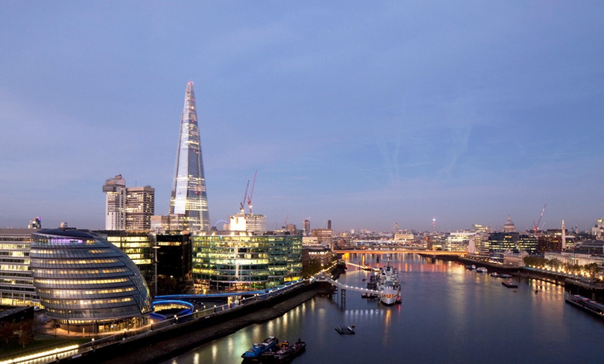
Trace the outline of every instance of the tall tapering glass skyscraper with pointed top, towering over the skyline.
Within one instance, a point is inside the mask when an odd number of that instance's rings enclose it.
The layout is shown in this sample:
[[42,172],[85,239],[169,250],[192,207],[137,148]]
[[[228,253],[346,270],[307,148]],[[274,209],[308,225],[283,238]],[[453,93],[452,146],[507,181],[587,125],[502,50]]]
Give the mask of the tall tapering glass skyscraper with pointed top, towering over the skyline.
[[210,230],[193,81],[187,83],[185,91],[185,106],[181,116],[181,133],[178,137],[178,151],[176,151],[170,214],[181,214],[180,218],[184,220],[183,230]]

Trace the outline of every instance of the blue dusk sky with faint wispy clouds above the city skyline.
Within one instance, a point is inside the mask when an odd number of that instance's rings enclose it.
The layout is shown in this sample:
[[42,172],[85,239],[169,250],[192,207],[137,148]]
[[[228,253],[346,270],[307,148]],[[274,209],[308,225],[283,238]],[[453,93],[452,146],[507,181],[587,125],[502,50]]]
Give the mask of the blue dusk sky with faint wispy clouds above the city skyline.
[[3,1],[0,226],[167,213],[194,81],[212,224],[589,229],[604,215],[601,1]]

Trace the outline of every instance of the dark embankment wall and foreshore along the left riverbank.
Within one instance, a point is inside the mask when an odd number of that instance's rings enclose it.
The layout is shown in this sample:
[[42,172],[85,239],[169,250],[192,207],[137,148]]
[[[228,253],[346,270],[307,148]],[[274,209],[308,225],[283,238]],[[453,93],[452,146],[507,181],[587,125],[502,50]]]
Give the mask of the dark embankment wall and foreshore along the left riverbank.
[[69,363],[138,364],[167,361],[207,342],[230,335],[245,326],[265,322],[287,313],[324,292],[314,282],[271,299],[246,304],[220,315],[165,326],[161,329],[124,338],[121,342],[98,347]]

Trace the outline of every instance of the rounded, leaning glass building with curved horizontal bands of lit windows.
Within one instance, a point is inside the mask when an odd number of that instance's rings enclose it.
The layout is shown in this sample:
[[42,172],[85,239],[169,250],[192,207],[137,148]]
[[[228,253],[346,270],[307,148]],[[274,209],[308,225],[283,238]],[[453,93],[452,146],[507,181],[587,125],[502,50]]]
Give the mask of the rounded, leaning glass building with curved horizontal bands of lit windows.
[[49,317],[100,324],[152,311],[140,271],[115,245],[77,230],[40,230],[32,236],[33,286]]

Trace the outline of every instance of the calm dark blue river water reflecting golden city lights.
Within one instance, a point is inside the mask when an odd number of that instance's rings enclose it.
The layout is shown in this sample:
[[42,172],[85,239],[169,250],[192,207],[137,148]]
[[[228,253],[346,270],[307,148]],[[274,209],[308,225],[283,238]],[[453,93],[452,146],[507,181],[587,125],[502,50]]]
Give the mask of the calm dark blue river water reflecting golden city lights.
[[[306,351],[303,363],[601,363],[604,320],[564,303],[564,288],[537,280],[505,288],[501,279],[462,265],[391,254],[399,268],[401,305],[384,306],[346,292],[314,297],[282,317],[248,326],[166,363],[241,363],[268,336]],[[351,263],[386,264],[387,254],[346,254]],[[364,287],[369,272],[349,265],[339,280]],[[538,290],[535,293],[535,290]],[[355,335],[334,327],[355,325]]]

